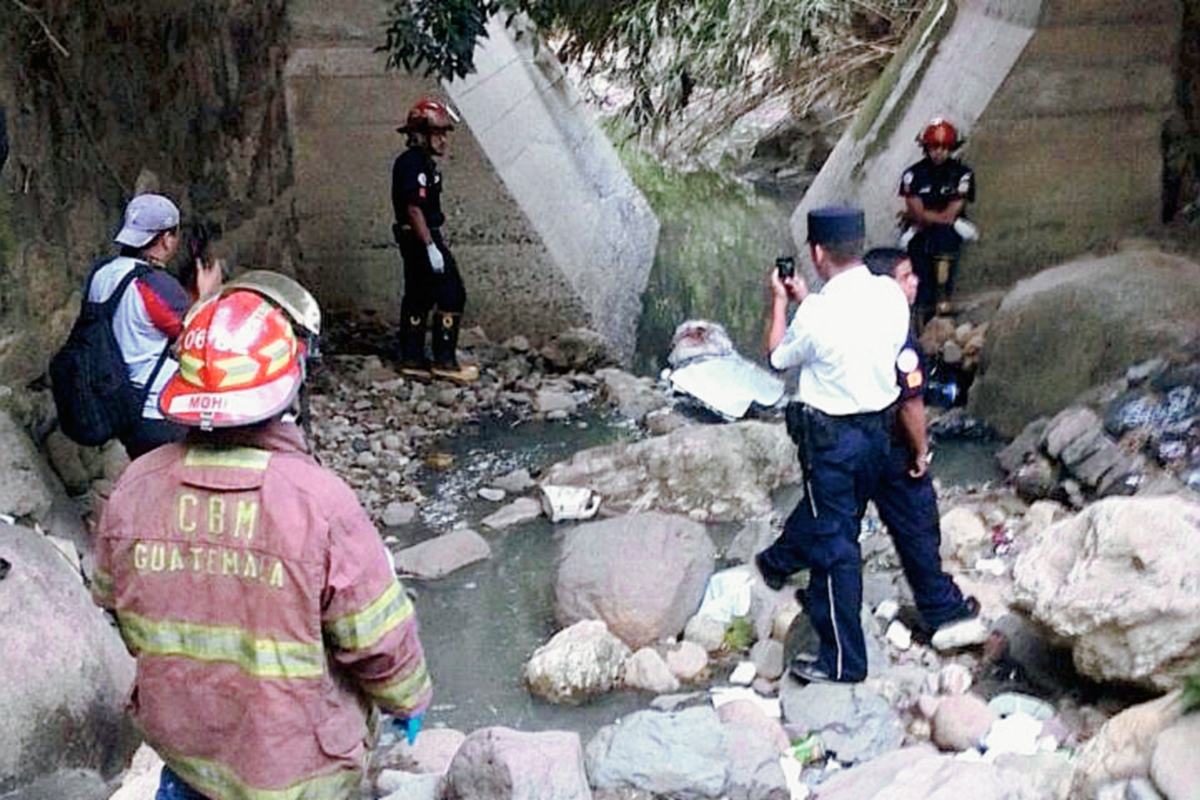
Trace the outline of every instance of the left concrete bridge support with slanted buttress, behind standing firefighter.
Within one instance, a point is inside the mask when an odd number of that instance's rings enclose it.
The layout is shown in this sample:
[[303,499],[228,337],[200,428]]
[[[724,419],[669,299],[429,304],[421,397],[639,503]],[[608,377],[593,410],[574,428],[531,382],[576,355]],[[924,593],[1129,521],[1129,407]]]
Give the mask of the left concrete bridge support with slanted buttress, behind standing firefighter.
[[[467,283],[466,324],[535,342],[570,326],[628,359],[658,221],[557,62],[493,23],[479,71],[439,86],[374,53],[386,4],[296,0],[287,68],[298,276],[328,308],[398,319],[391,236],[395,128],[422,94],[462,124],[442,160],[446,236]],[[542,48],[542,54],[548,52]]]

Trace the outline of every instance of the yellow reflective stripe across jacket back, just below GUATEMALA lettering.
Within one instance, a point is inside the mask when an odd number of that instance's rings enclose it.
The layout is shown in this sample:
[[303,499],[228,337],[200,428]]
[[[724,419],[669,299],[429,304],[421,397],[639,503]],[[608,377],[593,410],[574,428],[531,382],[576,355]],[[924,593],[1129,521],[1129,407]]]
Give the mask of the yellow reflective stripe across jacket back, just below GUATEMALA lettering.
[[139,652],[236,664],[252,678],[319,678],[325,672],[320,642],[258,638],[235,626],[156,621],[120,614],[121,633]]

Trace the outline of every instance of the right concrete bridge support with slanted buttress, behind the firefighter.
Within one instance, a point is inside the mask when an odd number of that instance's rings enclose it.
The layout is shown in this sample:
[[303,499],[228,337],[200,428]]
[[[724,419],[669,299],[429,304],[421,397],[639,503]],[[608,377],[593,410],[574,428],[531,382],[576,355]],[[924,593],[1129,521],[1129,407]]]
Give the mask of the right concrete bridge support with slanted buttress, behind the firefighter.
[[982,239],[961,290],[1153,233],[1178,32],[1172,0],[934,4],[797,207],[793,236],[804,241],[809,209],[850,201],[872,245],[893,243],[900,174],[932,116],[965,131],[978,178]]

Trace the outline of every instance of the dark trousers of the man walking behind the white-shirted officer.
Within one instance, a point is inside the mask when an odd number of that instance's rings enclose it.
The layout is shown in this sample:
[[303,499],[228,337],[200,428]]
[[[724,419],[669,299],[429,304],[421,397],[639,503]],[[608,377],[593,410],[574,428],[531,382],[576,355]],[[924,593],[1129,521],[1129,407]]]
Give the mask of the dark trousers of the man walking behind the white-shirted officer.
[[910,451],[893,441],[875,489],[875,507],[900,557],[917,610],[930,628],[970,614],[962,593],[942,570],[942,528],[934,480],[908,475]]

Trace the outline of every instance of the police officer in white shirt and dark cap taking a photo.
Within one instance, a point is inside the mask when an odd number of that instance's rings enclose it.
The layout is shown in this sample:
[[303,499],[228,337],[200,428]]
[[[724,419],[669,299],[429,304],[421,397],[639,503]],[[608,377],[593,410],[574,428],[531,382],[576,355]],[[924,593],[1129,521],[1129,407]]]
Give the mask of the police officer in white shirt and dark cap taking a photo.
[[[793,663],[792,674],[808,682],[858,682],[866,678],[858,534],[888,452],[908,303],[895,281],[863,265],[862,210],[817,209],[808,223],[809,252],[824,287],[812,293],[799,276],[773,270],[767,320],[770,366],[800,368],[787,417],[806,497],[755,561],[773,589],[809,569],[805,606],[821,645],[816,661]],[[792,301],[799,307],[788,323]]]

